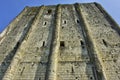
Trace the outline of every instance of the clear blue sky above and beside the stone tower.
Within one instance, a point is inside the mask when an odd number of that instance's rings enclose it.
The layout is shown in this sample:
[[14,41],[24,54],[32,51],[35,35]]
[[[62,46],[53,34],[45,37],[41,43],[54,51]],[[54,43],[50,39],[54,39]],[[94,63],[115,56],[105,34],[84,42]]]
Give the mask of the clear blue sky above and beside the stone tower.
[[120,0],[1,0],[0,2],[0,32],[23,10],[25,6],[40,6],[54,4],[73,4],[98,2],[120,24]]

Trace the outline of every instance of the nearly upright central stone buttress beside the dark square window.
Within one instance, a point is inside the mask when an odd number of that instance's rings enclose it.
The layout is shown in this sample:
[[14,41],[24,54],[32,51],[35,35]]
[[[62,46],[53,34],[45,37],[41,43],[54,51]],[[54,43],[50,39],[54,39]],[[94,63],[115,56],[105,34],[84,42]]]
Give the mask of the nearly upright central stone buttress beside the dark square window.
[[46,80],[57,80],[57,64],[60,44],[60,23],[61,6],[58,5],[55,14],[55,25],[53,26],[52,44],[49,55],[48,69],[46,71]]

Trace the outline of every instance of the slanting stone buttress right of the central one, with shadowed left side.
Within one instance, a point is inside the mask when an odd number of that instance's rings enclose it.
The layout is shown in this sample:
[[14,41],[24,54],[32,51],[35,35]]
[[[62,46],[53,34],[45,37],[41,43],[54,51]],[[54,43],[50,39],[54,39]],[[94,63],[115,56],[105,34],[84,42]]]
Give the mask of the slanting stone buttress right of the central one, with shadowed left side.
[[[90,57],[90,63],[93,65],[93,73],[95,73],[94,77],[95,77],[95,80],[103,80],[103,78],[104,78],[103,73],[98,72],[98,71],[100,71],[100,72],[103,72],[103,71],[102,71],[101,61],[99,59],[98,52],[96,50],[96,47],[94,46],[95,44],[93,43],[95,41],[92,40],[92,38],[89,34],[89,28],[88,28],[89,24],[87,23],[87,20],[84,18],[84,15],[83,15],[80,7],[81,7],[80,4],[75,4],[77,14],[79,15],[78,17],[81,20],[82,31],[83,31],[83,33],[85,33],[84,38],[86,41],[87,50],[88,50],[88,54]],[[85,37],[85,35],[86,35],[86,37]]]

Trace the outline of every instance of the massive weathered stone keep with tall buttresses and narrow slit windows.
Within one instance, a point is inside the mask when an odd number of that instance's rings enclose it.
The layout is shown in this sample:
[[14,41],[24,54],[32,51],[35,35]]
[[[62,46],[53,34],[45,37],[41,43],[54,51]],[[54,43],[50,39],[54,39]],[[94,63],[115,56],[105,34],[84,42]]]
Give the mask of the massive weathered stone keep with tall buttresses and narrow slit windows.
[[25,7],[0,34],[0,80],[120,80],[120,28],[98,3]]

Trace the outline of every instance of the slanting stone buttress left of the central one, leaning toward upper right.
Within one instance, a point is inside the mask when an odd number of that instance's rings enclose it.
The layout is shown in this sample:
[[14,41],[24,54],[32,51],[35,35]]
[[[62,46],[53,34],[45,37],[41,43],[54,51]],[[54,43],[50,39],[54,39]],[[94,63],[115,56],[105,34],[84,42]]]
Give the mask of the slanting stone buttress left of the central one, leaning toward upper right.
[[22,37],[20,39],[19,47],[17,48],[17,51],[15,52],[16,54],[14,55],[13,60],[11,61],[11,64],[8,67],[6,73],[3,77],[3,80],[13,80],[14,79],[14,74],[16,73],[15,71],[17,70],[18,64],[24,55],[23,53],[19,52],[20,45],[22,44],[25,37],[29,33],[30,28],[32,28],[32,26],[35,26],[38,23],[39,18],[41,17],[41,15],[43,13],[43,10],[44,10],[44,6],[41,6],[39,11],[35,15],[35,17],[29,22],[29,25],[27,26],[27,30],[25,31],[25,33],[22,35]]

